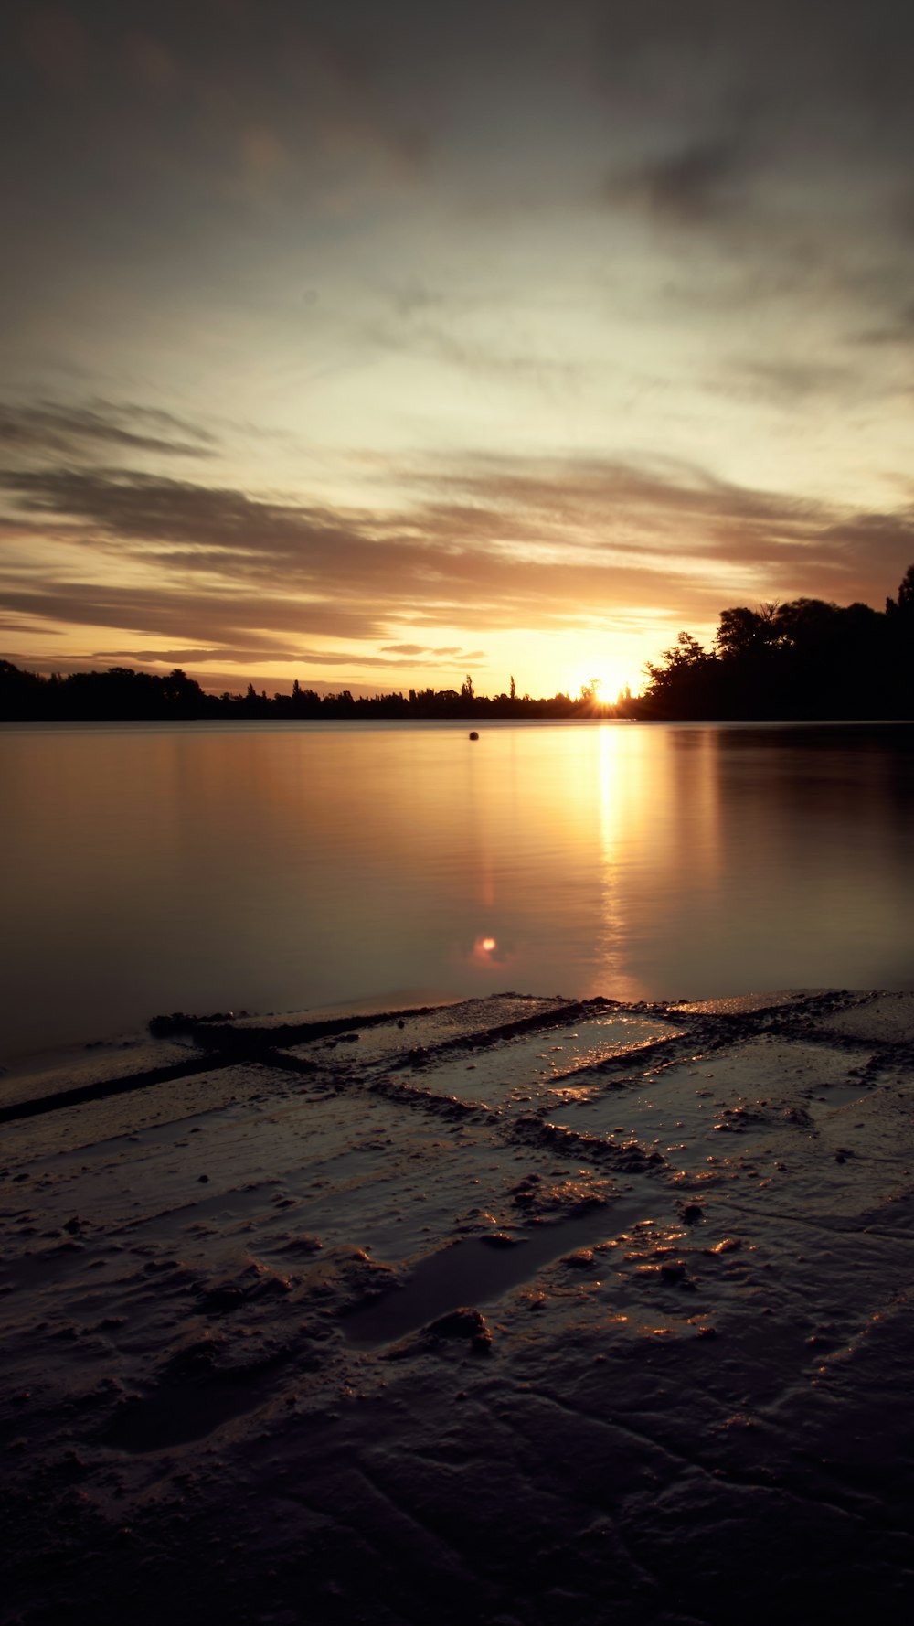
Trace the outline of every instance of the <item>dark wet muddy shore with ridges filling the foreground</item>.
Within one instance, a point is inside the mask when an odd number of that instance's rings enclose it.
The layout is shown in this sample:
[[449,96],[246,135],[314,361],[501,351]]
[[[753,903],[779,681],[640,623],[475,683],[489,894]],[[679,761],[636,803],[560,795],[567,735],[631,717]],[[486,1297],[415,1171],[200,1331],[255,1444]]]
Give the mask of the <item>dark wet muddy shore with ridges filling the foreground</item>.
[[0,1137],[3,1623],[914,1618],[914,995],[166,1026]]

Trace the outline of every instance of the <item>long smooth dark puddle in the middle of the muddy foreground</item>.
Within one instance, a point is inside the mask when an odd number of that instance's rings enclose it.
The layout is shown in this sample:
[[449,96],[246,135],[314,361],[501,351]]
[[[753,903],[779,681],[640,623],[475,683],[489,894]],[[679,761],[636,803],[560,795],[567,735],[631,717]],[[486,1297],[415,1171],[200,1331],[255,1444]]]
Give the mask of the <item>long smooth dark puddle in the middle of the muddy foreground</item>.
[[514,1233],[511,1247],[494,1247],[481,1236],[462,1237],[423,1259],[402,1288],[351,1311],[343,1322],[346,1341],[356,1350],[377,1350],[462,1306],[490,1304],[563,1254],[608,1242],[642,1208],[642,1197],[613,1198],[571,1220]]

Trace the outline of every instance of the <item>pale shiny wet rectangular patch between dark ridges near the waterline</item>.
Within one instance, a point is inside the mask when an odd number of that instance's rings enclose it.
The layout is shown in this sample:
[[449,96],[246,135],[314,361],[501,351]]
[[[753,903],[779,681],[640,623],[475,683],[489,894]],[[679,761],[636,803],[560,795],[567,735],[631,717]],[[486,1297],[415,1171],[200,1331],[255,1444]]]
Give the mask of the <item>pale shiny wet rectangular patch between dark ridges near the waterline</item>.
[[[394,1075],[410,1081],[416,1076],[436,1094],[491,1106],[524,1101],[555,1091],[576,1088],[576,1075],[585,1075],[600,1062],[642,1050],[664,1039],[681,1037],[683,1029],[660,1018],[598,1016],[572,1028],[551,1028],[524,1039],[509,1039],[486,1050],[465,1052],[441,1067],[431,1062],[416,1072]],[[577,1088],[594,1088],[598,1080],[577,1080]]]

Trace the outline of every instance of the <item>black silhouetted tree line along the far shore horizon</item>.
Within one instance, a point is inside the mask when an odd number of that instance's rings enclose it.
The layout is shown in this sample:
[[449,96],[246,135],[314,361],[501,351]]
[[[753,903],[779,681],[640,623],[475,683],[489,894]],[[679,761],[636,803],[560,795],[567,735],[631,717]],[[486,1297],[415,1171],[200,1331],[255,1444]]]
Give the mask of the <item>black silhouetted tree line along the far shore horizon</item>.
[[576,719],[641,720],[813,720],[914,717],[914,564],[898,598],[885,610],[821,598],[737,605],[720,613],[712,649],[680,633],[657,663],[647,663],[641,696],[628,691],[603,704],[598,683],[577,698],[533,699],[506,693],[477,694],[467,675],[460,689],[410,689],[407,694],[317,694],[298,680],[291,694],[207,694],[176,668],[168,676],[109,667],[41,676],[0,660],[0,719],[5,720],[169,720],[169,719]]

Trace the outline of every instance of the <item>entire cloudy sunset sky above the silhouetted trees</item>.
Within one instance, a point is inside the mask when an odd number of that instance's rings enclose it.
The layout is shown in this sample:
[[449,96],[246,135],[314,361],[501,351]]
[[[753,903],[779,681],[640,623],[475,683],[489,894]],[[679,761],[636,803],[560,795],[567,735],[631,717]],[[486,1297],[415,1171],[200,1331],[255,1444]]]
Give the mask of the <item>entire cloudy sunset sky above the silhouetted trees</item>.
[[909,0],[7,0],[0,655],[603,694],[914,561]]

